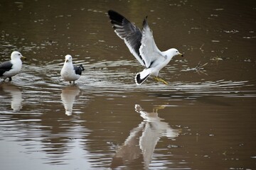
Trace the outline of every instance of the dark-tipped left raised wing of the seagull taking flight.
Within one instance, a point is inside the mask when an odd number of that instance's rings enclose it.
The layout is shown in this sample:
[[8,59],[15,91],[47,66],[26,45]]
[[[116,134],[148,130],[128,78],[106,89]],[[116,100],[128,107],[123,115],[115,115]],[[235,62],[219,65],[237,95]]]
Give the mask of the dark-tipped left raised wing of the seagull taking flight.
[[142,45],[142,31],[119,13],[110,10],[108,11],[108,14],[110,16],[114,32],[117,33],[119,38],[124,40],[129,51],[134,55],[134,57],[136,57],[139,63],[145,66],[143,58],[139,53],[139,47]]

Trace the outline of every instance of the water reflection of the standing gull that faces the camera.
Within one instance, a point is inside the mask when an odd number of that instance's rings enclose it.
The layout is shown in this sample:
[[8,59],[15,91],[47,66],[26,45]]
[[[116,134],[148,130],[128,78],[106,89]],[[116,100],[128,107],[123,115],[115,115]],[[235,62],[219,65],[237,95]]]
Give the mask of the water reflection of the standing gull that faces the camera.
[[65,108],[66,115],[72,115],[73,103],[75,102],[75,97],[80,94],[80,89],[78,86],[67,86],[61,91],[60,97]]

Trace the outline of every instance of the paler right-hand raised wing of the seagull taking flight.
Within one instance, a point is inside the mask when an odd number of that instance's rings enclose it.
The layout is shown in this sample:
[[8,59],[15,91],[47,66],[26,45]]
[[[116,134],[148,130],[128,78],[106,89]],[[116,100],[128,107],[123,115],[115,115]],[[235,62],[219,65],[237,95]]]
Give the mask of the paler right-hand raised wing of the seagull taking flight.
[[144,60],[147,68],[149,68],[154,61],[158,60],[159,57],[164,57],[159,48],[156,47],[153,33],[149,28],[149,24],[146,22],[146,18],[143,21],[142,45],[139,47],[139,54],[142,56],[142,60]]

